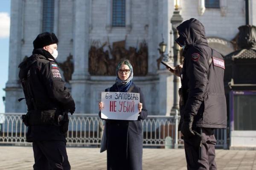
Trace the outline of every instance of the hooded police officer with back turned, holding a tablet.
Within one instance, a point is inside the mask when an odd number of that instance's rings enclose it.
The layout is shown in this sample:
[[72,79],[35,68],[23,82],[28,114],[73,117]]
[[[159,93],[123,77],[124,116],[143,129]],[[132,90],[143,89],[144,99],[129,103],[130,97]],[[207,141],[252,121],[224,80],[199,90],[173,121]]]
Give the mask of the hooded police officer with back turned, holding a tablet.
[[[224,59],[208,46],[202,23],[191,18],[177,26],[183,47],[180,124],[188,170],[216,170],[215,128],[227,127]],[[175,72],[180,69],[176,67]]]

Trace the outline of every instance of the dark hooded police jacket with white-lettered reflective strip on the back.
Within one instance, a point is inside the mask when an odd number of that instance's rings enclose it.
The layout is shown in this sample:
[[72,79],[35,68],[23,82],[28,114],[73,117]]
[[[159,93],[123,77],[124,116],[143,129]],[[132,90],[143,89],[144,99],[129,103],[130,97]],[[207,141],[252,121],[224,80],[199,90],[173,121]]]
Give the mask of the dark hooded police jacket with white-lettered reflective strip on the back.
[[182,70],[185,106],[181,117],[186,120],[193,115],[197,127],[226,128],[224,59],[208,46],[204,26],[198,20],[186,20],[177,30],[180,37],[176,42],[185,45]]

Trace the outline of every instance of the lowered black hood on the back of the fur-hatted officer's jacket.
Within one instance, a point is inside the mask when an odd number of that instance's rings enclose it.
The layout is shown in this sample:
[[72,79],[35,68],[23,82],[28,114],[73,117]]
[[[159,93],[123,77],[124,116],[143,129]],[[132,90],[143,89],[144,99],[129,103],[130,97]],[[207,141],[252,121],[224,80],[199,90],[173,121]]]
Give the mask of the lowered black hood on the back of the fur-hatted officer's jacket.
[[32,52],[32,55],[29,58],[26,58],[23,62],[19,64],[20,72],[19,72],[19,78],[22,80],[23,78],[27,77],[27,72],[29,71],[30,66],[35,63],[38,59],[47,59],[50,58],[54,60],[56,63],[57,61],[55,60],[52,55],[44,50],[44,49],[34,49]]

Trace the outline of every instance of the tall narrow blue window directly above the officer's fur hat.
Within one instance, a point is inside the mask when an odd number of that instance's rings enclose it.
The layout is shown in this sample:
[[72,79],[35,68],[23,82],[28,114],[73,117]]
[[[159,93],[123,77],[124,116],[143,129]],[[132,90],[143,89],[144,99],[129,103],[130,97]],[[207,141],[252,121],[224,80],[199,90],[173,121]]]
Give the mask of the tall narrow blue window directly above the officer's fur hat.
[[53,32],[54,0],[43,0],[42,32]]

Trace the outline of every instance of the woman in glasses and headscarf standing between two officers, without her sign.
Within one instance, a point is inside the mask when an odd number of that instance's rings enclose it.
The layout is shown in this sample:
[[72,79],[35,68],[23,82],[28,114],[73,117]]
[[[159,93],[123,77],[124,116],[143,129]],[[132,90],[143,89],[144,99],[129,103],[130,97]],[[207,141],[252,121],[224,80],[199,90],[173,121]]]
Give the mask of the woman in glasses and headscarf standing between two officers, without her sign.
[[[143,94],[133,82],[130,61],[120,61],[116,66],[116,83],[105,92],[132,92],[140,94],[137,105],[139,116],[135,121],[106,121],[108,170],[142,170],[143,130],[142,121],[148,115]],[[104,103],[99,102],[99,117],[102,118]]]

